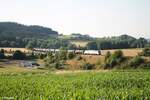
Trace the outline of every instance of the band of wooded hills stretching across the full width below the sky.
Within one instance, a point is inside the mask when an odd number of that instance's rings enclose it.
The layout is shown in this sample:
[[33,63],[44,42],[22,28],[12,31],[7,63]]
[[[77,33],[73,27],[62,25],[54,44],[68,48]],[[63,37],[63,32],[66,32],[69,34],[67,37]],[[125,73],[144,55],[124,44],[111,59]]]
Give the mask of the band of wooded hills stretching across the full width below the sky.
[[[73,42],[72,42],[73,40]],[[73,43],[86,41],[85,47]],[[70,36],[59,35],[58,32],[42,26],[27,26],[13,22],[0,22],[0,47],[51,48],[59,49],[122,49],[150,47],[144,39],[136,39],[129,35],[117,37],[92,38],[79,33]]]

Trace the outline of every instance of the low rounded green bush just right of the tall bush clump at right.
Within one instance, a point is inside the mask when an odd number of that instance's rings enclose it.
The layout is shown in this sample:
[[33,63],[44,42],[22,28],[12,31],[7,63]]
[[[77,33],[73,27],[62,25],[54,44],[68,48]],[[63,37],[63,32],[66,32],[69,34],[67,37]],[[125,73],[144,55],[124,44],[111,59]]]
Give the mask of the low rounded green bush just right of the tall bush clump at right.
[[129,66],[137,68],[142,63],[144,63],[144,59],[140,56],[136,56],[136,57],[131,59]]

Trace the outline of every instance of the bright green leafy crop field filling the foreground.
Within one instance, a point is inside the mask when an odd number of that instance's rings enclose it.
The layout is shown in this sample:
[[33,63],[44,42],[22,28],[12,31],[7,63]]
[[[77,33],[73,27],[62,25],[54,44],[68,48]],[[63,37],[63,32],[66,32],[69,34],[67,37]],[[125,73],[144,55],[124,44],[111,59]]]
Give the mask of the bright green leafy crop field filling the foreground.
[[148,100],[150,71],[2,74],[0,99]]

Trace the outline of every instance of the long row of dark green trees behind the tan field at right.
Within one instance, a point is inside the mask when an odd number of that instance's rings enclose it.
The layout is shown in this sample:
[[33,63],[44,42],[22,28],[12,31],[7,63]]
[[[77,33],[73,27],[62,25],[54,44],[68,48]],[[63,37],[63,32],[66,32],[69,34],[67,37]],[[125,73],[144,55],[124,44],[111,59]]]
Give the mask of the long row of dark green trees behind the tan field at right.
[[119,37],[100,38],[87,44],[87,49],[125,49],[150,47],[150,43],[144,39],[136,39],[128,35]]

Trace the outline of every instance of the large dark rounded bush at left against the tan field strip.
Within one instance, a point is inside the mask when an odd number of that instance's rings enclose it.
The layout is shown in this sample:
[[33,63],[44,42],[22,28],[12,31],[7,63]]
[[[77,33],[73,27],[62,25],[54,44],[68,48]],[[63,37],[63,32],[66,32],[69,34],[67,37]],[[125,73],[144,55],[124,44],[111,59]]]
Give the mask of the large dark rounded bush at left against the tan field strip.
[[15,59],[15,60],[24,60],[25,58],[26,58],[26,55],[20,50],[16,50],[12,56],[12,59]]

